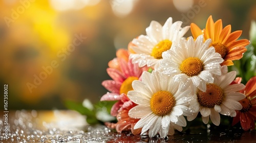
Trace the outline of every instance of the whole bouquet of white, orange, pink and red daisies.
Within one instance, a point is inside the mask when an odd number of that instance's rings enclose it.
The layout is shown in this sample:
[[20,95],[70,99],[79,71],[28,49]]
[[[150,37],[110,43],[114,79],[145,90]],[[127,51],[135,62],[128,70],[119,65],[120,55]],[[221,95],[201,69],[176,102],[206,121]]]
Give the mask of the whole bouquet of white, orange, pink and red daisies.
[[[254,129],[256,77],[245,86],[227,67],[243,57],[249,40],[238,40],[242,31],[231,33],[230,25],[223,28],[211,16],[203,30],[181,25],[172,17],[163,26],[152,21],[128,51],[117,51],[107,69],[113,80],[102,82],[110,92],[101,98],[117,101],[111,109],[117,123],[105,125],[164,138],[200,113],[204,124],[219,126],[222,114],[234,117],[232,125],[241,121],[244,130]],[[193,36],[185,38],[189,29]]]

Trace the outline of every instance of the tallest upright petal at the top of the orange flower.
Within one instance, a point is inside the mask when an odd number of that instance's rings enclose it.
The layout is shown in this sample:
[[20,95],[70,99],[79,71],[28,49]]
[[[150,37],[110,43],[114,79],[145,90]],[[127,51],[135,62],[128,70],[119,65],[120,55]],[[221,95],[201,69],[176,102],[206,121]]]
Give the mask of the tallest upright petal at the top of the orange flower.
[[211,38],[212,41],[215,41],[215,39],[214,39],[214,20],[212,19],[211,15],[207,19],[204,34],[205,34],[204,35],[205,39]]

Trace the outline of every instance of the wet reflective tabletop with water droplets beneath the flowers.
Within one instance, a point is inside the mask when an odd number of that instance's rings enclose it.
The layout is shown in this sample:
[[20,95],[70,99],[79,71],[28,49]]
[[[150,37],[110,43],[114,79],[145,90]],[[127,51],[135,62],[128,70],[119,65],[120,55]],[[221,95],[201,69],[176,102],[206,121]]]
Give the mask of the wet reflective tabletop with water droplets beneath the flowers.
[[[3,111],[1,112],[3,115]],[[121,134],[105,126],[89,126],[74,111],[10,111],[8,128],[0,121],[0,142],[256,142],[256,132],[225,126],[198,126],[164,139],[156,135]]]

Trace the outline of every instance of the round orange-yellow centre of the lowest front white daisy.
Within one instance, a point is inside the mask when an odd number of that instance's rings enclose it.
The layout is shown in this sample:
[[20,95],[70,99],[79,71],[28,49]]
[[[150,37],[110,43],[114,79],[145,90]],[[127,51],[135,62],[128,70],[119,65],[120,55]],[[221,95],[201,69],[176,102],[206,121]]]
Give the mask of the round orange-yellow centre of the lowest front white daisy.
[[168,91],[158,91],[152,96],[150,107],[154,114],[163,116],[172,111],[175,103],[176,101],[172,93]]

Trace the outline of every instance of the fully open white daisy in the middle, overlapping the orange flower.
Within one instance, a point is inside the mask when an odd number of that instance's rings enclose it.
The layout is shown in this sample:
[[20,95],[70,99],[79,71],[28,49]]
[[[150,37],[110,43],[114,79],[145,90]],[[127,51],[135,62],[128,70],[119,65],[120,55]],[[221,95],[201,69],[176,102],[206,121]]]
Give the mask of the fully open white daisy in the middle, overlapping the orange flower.
[[173,50],[163,52],[163,59],[156,67],[164,74],[175,75],[174,79],[180,82],[181,91],[188,88],[195,91],[196,87],[205,91],[206,83],[214,82],[212,75],[221,75],[220,63],[224,60],[213,46],[209,47],[211,39],[203,40],[202,35],[196,41],[193,37],[181,39]]

